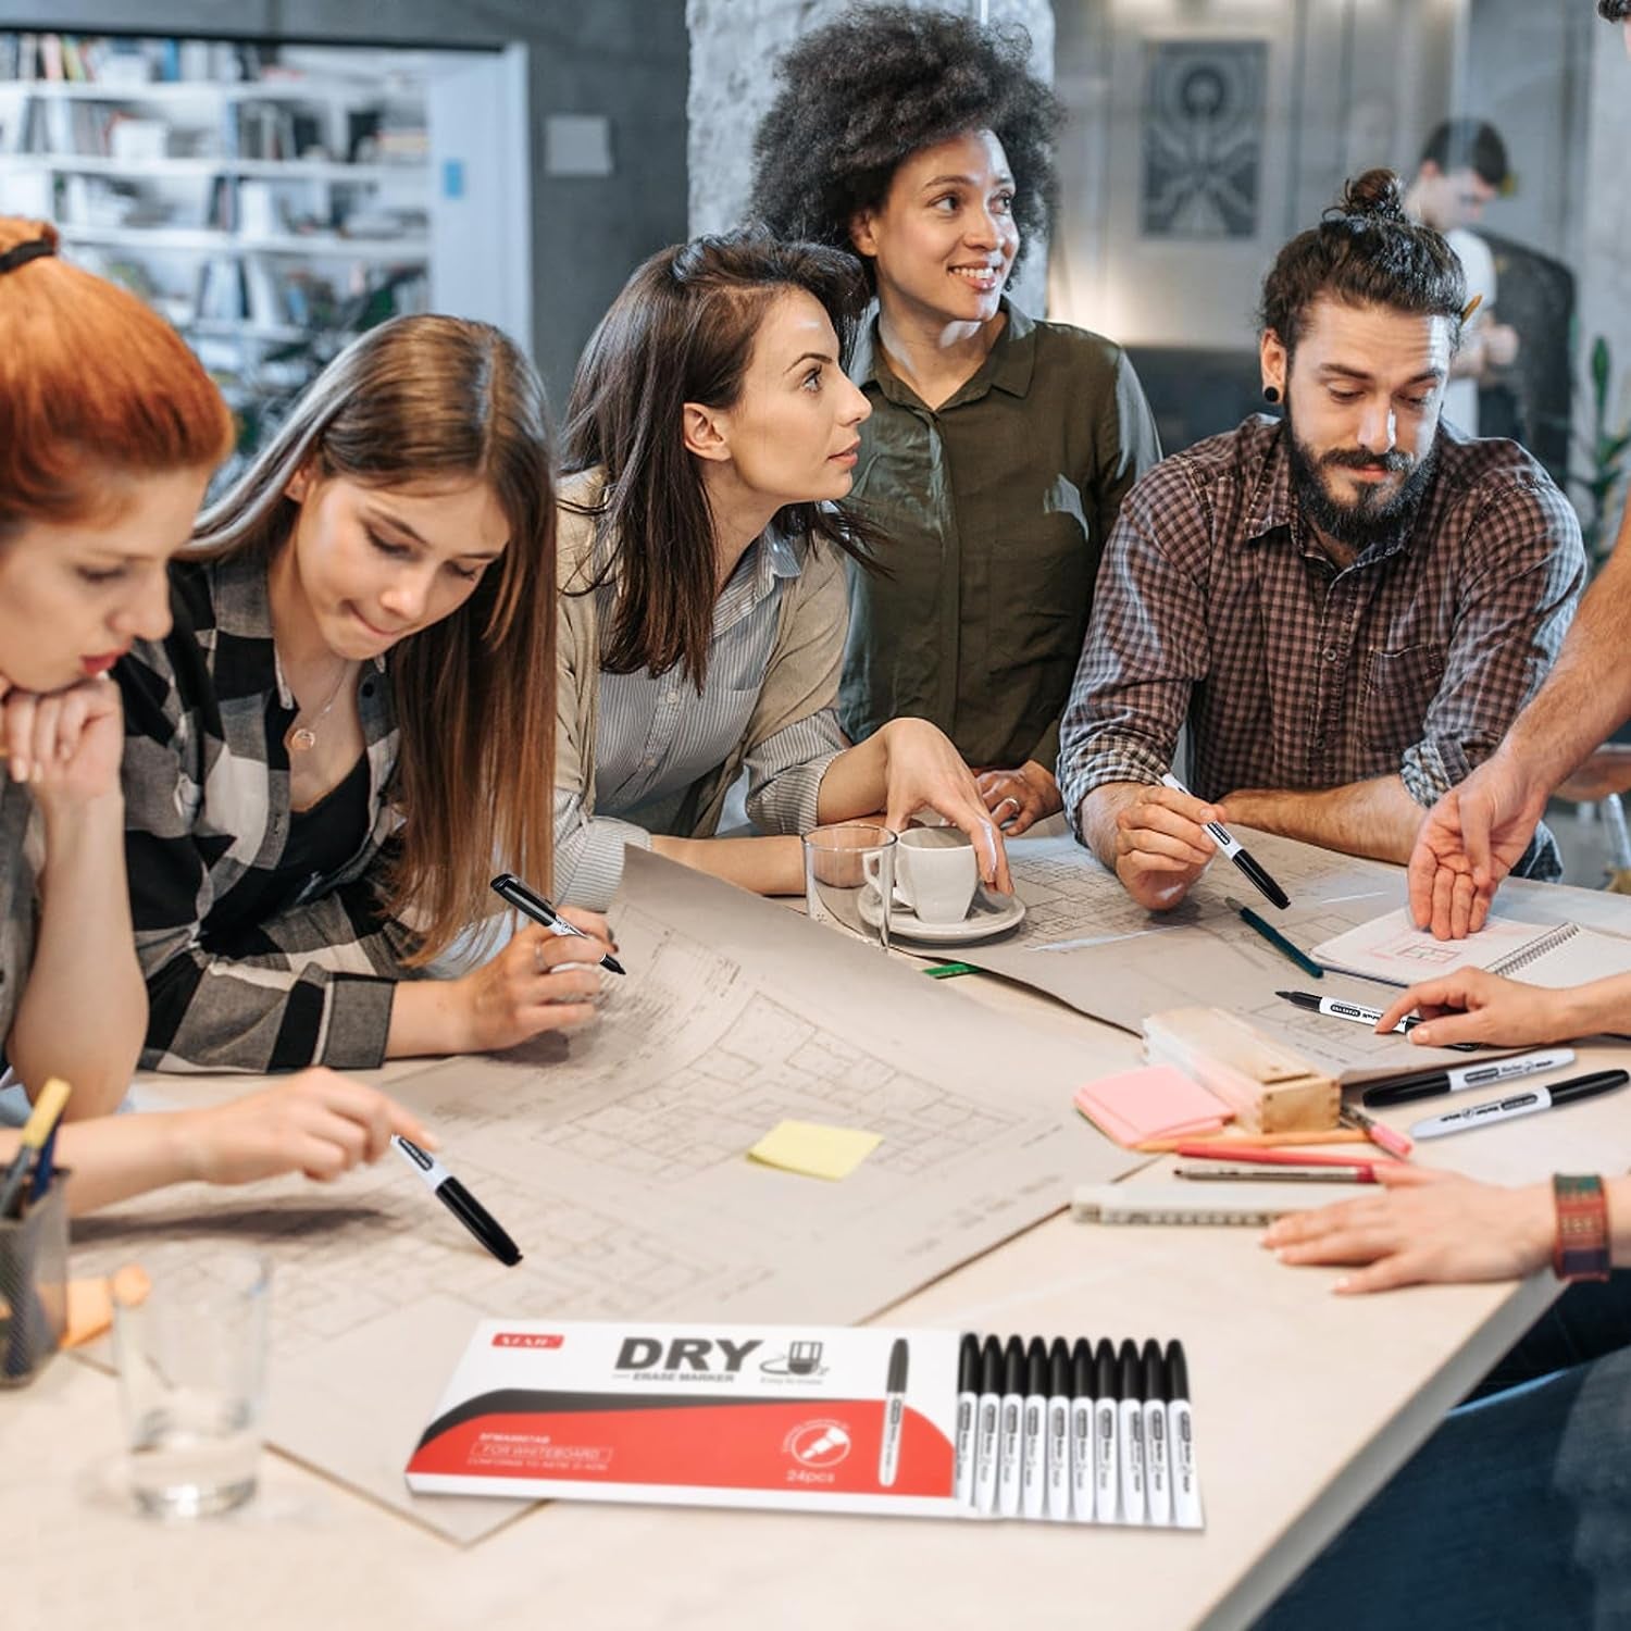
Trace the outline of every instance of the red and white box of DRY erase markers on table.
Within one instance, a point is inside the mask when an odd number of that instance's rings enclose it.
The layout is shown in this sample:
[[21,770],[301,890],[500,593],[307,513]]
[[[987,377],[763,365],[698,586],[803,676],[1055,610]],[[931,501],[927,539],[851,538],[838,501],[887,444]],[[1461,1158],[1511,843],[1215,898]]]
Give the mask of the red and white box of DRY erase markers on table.
[[484,1321],[419,1494],[1200,1528],[1181,1347]]

